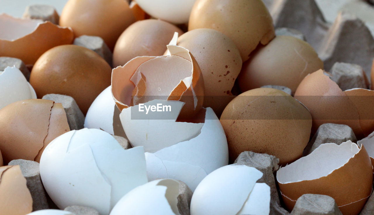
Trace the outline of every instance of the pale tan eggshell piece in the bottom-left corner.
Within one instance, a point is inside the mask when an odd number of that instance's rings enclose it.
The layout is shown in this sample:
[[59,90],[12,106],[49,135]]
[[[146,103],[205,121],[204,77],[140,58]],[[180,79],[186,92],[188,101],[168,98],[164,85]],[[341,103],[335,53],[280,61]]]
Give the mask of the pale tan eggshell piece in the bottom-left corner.
[[0,167],[0,208],[6,215],[24,215],[33,210],[33,199],[18,165]]

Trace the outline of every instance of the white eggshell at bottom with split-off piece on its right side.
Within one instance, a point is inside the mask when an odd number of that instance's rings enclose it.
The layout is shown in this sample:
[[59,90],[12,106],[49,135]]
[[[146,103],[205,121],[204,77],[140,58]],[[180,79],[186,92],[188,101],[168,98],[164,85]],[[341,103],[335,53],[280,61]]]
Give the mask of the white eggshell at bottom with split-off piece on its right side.
[[269,215],[270,187],[256,183],[262,172],[245,165],[223,166],[206,176],[191,199],[191,215]]

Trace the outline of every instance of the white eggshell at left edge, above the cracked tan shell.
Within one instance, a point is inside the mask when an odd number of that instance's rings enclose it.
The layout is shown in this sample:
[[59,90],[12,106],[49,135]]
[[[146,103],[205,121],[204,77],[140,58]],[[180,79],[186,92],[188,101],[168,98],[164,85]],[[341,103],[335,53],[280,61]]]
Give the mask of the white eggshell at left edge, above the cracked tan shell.
[[0,109],[19,100],[36,99],[34,88],[16,67],[0,72],[0,92]]

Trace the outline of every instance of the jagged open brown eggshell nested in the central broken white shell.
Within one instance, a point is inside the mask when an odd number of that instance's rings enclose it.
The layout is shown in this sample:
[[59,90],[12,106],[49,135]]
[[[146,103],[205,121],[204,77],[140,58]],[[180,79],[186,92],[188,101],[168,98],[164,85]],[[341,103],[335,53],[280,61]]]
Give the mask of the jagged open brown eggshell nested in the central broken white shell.
[[[185,105],[179,114],[182,119],[191,118],[199,112],[204,99],[204,80],[199,65],[187,49],[173,45],[167,47],[171,56],[135,57],[124,66],[113,69],[112,94],[121,112],[122,109],[134,105],[134,99],[138,99],[137,102],[139,103],[145,103],[147,100],[159,97],[184,102]],[[157,74],[156,68],[158,69]],[[183,76],[183,74],[181,75],[182,72],[191,76],[187,76],[183,80],[179,79]],[[147,77],[144,74],[152,76],[154,80],[149,81],[148,78],[148,83],[146,83],[145,78]],[[172,78],[174,82],[180,80],[179,84],[172,85],[174,84],[171,82]],[[162,84],[159,84],[158,80],[161,80]],[[155,90],[155,87],[172,89],[172,91],[163,92]],[[151,94],[144,94],[147,88],[147,93]],[[141,100],[141,97],[143,97],[143,100]]]

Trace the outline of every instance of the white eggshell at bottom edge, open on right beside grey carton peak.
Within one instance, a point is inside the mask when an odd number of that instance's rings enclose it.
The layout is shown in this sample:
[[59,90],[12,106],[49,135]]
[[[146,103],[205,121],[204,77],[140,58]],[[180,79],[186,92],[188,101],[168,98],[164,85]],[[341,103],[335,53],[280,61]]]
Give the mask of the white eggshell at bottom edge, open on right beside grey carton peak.
[[180,183],[172,179],[148,182],[123,196],[110,215],[180,215],[179,187]]

